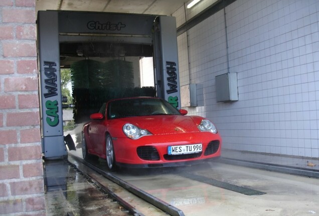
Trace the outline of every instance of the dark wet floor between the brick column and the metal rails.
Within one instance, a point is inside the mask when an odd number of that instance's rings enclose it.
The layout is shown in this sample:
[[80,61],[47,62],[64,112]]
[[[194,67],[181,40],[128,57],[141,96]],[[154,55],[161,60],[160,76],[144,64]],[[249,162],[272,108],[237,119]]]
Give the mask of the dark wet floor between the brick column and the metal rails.
[[64,160],[45,163],[46,214],[132,215]]

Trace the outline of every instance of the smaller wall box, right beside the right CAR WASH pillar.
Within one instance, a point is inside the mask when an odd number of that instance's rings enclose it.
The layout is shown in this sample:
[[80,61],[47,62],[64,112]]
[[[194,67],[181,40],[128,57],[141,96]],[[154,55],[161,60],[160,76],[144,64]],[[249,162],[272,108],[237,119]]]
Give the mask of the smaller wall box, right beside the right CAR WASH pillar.
[[181,86],[181,106],[197,106],[196,84]]

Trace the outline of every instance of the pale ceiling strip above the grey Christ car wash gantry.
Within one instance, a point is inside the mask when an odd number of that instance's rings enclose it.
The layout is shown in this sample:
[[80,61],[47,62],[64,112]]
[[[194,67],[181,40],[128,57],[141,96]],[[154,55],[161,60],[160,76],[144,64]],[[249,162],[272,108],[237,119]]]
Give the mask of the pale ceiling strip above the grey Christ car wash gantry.
[[36,0],[38,10],[80,10],[98,12],[171,15],[189,0]]

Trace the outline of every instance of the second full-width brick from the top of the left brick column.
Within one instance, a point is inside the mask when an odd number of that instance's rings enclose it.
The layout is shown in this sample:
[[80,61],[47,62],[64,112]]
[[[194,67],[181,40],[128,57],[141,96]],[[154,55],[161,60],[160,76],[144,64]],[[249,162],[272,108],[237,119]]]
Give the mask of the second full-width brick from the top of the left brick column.
[[5,57],[35,57],[37,48],[35,42],[3,42],[3,52]]

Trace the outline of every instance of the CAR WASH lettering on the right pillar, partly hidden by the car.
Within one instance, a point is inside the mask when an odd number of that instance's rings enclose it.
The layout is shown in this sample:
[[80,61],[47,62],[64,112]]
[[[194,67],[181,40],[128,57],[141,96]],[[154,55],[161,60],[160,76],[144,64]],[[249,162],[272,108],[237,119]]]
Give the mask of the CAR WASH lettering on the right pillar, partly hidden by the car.
[[[167,69],[167,84],[168,90],[166,92],[168,94],[178,92],[177,86],[177,73],[176,73],[176,62],[174,61],[166,61],[166,69]],[[178,96],[169,96],[169,103],[171,103],[175,108],[179,105]]]

